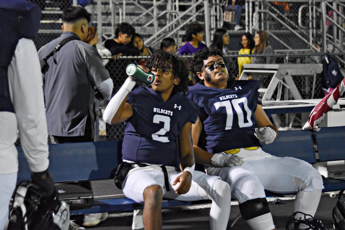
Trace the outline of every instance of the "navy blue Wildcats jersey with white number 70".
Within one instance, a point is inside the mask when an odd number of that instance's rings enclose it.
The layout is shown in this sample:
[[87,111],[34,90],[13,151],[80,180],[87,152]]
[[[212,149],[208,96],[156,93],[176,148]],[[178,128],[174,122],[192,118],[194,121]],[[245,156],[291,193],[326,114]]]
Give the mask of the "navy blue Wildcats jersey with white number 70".
[[261,147],[254,136],[259,87],[255,80],[229,81],[225,90],[200,83],[189,87],[187,97],[199,105],[203,122],[198,146],[210,153]]

